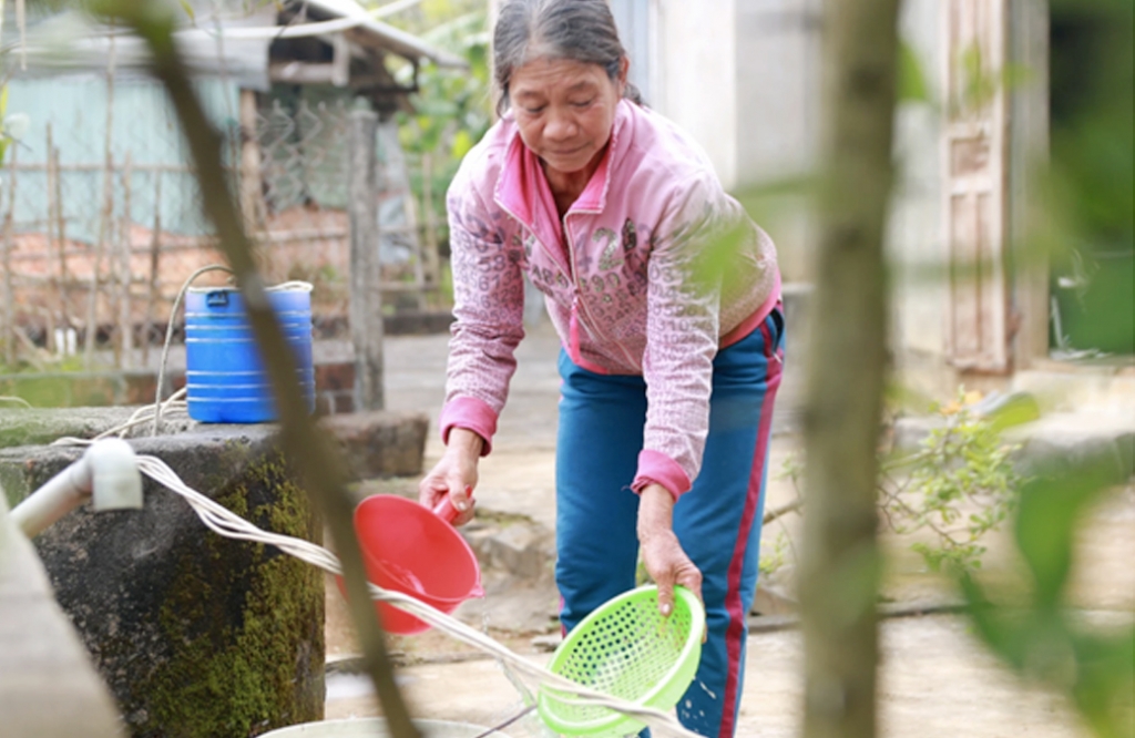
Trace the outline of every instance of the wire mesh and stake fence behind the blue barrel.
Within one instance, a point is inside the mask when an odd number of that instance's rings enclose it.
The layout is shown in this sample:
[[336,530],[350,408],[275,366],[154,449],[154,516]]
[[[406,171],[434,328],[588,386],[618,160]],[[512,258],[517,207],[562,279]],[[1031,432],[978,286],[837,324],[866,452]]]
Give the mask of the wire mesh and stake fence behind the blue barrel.
[[[19,142],[0,175],[0,363],[8,366],[36,351],[90,357],[106,347],[129,366],[132,349],[144,354],[165,335],[185,279],[224,263],[178,125],[168,106],[145,104],[161,90],[150,81],[73,84],[53,91],[69,104],[39,111],[49,121],[42,135]],[[269,284],[311,282],[317,329],[346,335],[351,101],[207,84],[199,92],[219,121],[229,187]],[[419,245],[393,124],[380,126],[378,152],[381,288],[420,307],[437,283],[436,255],[423,258]],[[201,279],[220,282],[216,272]]]

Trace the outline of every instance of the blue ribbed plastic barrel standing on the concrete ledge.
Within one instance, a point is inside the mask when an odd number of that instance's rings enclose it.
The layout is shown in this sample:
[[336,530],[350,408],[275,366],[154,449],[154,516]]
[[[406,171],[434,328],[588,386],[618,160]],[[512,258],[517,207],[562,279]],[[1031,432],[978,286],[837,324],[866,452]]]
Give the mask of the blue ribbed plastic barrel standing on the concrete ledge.
[[[268,299],[296,362],[296,381],[316,406],[311,358],[311,285],[268,288]],[[277,419],[271,384],[260,359],[241,293],[194,287],[185,295],[185,385],[190,417],[201,422],[270,422]]]

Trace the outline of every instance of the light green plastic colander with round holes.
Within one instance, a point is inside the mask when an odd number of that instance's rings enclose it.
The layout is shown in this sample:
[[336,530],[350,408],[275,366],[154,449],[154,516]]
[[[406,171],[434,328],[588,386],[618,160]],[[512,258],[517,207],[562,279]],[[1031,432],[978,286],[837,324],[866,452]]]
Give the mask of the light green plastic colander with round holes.
[[[674,611],[658,613],[658,588],[632,589],[607,601],[568,634],[548,669],[577,684],[642,706],[669,711],[693,681],[705,629],[701,603],[674,588]],[[539,713],[565,736],[614,738],[645,723],[541,687]]]

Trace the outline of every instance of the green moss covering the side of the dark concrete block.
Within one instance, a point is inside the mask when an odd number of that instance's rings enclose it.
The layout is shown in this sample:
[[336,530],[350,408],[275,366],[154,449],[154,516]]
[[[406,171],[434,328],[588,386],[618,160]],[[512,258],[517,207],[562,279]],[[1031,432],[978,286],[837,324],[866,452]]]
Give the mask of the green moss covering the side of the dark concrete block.
[[[261,528],[318,536],[279,453],[254,461],[215,500]],[[144,703],[135,736],[245,737],[320,720],[321,572],[271,546],[201,535],[204,555],[182,560],[159,617],[163,637],[180,647],[135,691]]]

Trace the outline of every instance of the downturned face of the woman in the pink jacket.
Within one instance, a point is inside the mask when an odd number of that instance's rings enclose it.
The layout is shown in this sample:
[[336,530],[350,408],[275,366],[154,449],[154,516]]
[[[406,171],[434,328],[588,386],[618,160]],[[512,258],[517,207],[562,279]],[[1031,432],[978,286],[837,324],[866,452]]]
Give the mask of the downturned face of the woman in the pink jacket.
[[512,73],[508,102],[524,144],[562,174],[598,165],[623,97],[627,61],[617,81],[597,64],[533,59]]

